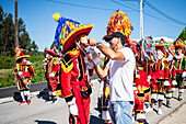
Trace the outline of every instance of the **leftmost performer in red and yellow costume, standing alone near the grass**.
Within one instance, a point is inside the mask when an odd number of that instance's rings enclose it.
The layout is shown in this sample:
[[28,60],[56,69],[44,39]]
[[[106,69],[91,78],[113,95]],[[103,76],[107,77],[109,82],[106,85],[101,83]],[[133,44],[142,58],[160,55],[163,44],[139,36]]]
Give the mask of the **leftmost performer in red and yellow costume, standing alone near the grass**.
[[[16,84],[18,89],[21,92],[22,102],[21,104],[26,103],[31,104],[31,94],[30,94],[30,86],[31,86],[31,78],[34,76],[34,69],[32,63],[27,60],[30,57],[28,54],[23,54],[23,49],[20,48],[20,45],[15,48],[15,68],[14,75],[16,76]],[[27,98],[27,100],[26,100]]]

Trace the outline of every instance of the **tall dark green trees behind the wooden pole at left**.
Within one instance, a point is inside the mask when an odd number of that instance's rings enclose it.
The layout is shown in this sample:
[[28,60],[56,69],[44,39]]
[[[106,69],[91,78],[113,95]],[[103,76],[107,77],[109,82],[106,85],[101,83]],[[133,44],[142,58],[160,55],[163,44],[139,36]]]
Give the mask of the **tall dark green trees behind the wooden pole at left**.
[[[32,41],[23,19],[19,19],[19,45],[27,50],[37,52],[35,41]],[[14,21],[11,13],[5,13],[0,4],[0,56],[14,56]]]

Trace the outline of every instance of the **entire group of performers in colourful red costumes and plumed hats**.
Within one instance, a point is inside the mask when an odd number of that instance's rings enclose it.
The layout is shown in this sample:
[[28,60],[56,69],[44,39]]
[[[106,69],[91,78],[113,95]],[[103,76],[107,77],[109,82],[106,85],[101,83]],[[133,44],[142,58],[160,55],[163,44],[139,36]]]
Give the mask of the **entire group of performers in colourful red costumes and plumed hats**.
[[[88,59],[92,50],[88,43],[88,35],[93,24],[83,25],[74,20],[54,14],[58,22],[55,34],[55,47],[45,49],[46,56],[43,67],[48,84],[48,101],[57,102],[57,97],[66,100],[69,108],[70,124],[88,124],[90,121],[90,94],[92,93],[91,77],[94,66]],[[132,116],[140,124],[146,123],[146,112],[153,110],[158,103],[158,114],[162,114],[162,103],[166,99],[167,108],[171,108],[171,99],[178,88],[178,100],[183,100],[184,78],[186,77],[185,44],[179,38],[174,43],[163,38],[158,43],[151,36],[141,41],[130,41],[132,26],[127,14],[116,11],[108,22],[106,34],[120,32],[126,37],[126,47],[130,47],[136,57],[136,70],[133,72],[135,105]],[[95,53],[95,50],[93,50]],[[15,50],[18,88],[21,91],[22,102],[31,103],[30,83],[34,76],[32,64],[26,59],[20,47]],[[95,59],[94,59],[95,60]],[[108,58],[104,60],[104,67]],[[101,87],[98,108],[105,124],[112,124],[109,116],[109,77],[103,80]],[[27,100],[25,100],[25,95]]]

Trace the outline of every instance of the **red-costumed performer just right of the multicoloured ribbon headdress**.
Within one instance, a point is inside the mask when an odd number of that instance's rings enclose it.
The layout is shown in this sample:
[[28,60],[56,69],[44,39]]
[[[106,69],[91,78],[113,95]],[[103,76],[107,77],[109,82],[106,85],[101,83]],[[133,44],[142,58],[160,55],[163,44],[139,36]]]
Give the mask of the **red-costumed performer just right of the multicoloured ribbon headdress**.
[[164,44],[154,44],[158,55],[158,61],[152,65],[151,75],[151,104],[150,111],[154,101],[158,99],[158,114],[162,114],[162,103],[164,100],[164,86],[170,86],[168,69],[166,67],[166,58],[164,57]]

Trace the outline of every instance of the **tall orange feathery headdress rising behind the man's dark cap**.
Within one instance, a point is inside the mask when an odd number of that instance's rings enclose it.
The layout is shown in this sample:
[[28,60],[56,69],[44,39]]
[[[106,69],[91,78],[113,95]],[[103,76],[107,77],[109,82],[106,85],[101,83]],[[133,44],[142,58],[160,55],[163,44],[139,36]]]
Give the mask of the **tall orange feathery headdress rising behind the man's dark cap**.
[[129,19],[126,13],[117,10],[109,19],[106,27],[107,35],[114,32],[120,32],[128,40],[133,27],[131,26]]

